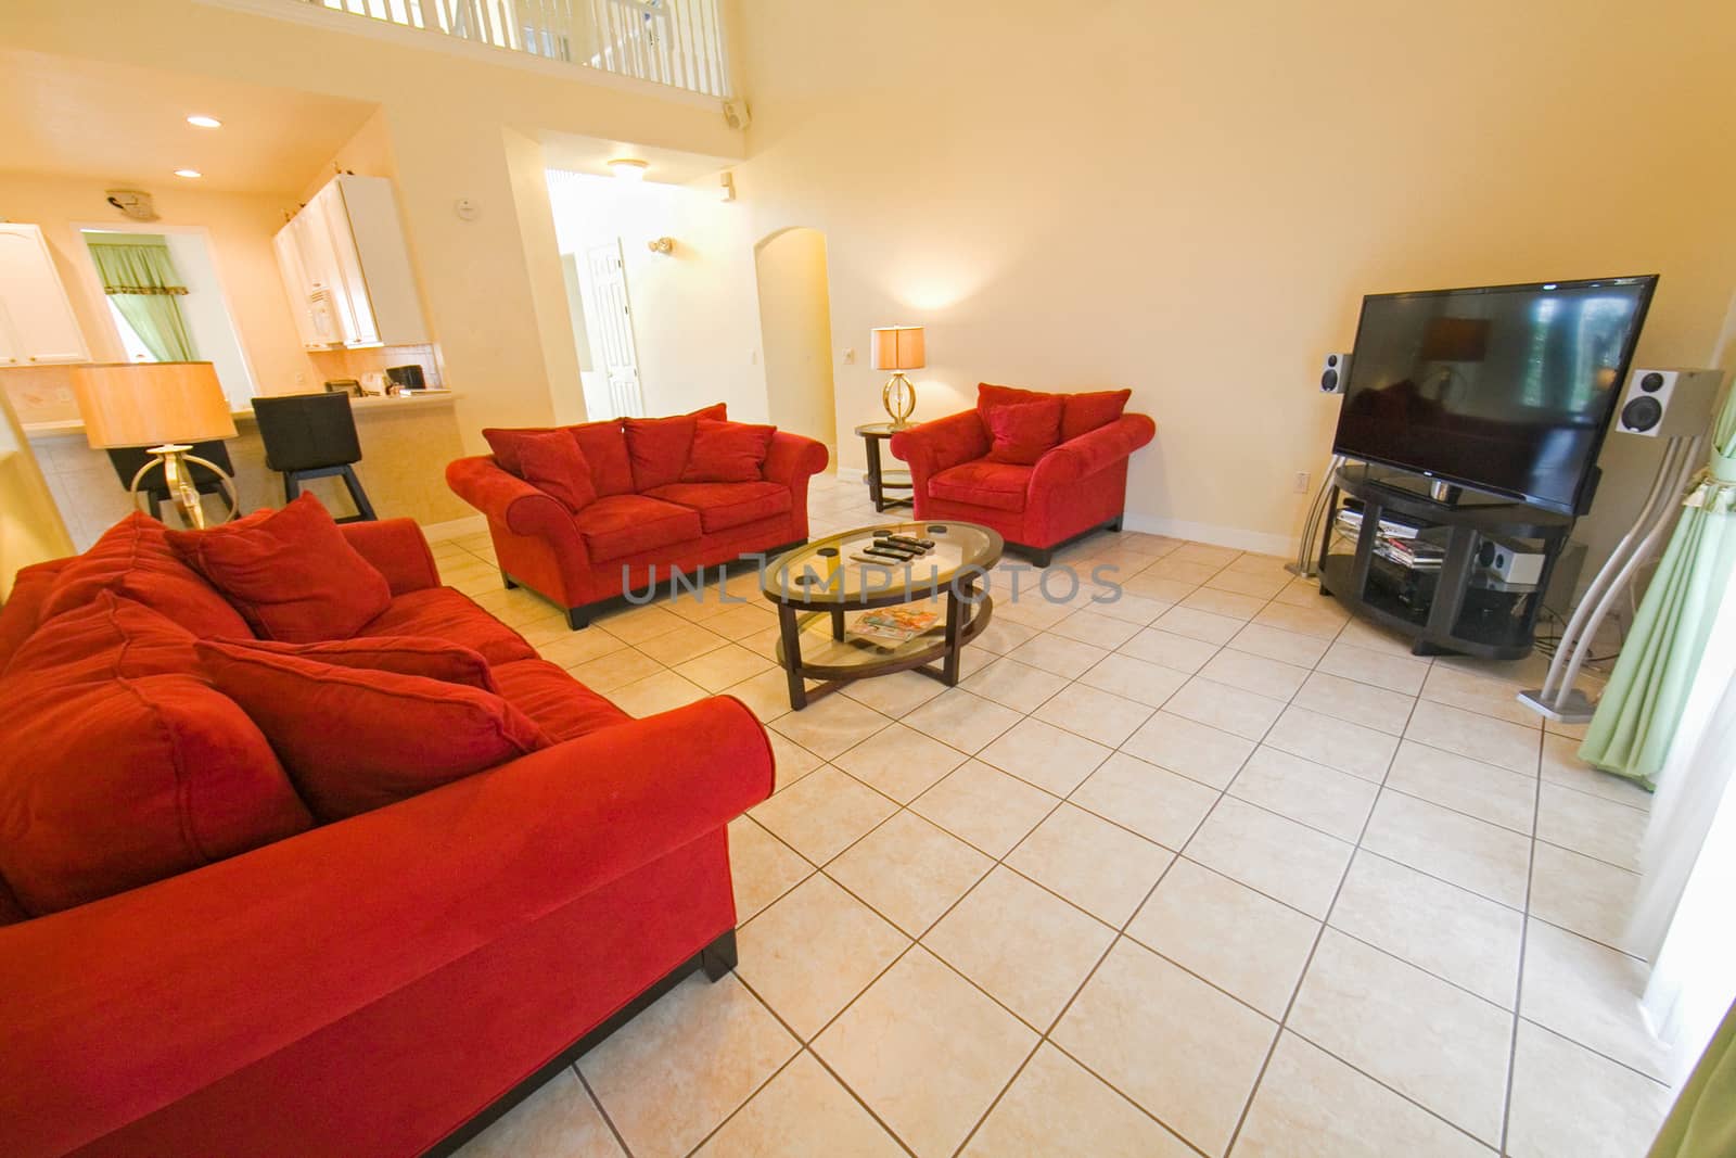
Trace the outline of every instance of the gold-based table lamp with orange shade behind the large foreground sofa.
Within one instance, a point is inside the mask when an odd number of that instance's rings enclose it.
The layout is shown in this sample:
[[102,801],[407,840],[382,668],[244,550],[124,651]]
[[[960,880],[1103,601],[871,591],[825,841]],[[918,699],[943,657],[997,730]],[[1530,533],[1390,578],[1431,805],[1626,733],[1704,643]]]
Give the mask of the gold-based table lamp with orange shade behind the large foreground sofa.
[[187,526],[205,526],[205,509],[187,464],[215,474],[236,509],[234,481],[217,464],[189,455],[189,443],[234,438],[229,399],[208,361],[94,363],[73,366],[73,398],[94,450],[144,446],[144,464],[128,488],[139,503],[139,483],[161,467],[168,495]]

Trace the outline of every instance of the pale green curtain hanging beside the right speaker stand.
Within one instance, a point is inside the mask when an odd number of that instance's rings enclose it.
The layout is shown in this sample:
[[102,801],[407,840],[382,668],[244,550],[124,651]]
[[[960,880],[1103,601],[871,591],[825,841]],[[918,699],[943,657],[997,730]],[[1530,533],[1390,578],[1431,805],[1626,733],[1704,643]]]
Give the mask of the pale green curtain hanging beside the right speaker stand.
[[1580,759],[1654,786],[1706,651],[1719,602],[1736,576],[1736,391],[1712,429],[1712,460],[1682,498],[1682,516],[1641,602],[1634,632],[1585,731]]

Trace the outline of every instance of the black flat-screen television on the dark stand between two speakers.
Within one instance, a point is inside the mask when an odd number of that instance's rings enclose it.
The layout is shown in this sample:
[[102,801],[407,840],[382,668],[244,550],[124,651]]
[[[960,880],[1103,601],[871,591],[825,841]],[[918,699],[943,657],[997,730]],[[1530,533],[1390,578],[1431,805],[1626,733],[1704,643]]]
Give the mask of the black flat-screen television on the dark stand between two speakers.
[[1333,451],[1581,514],[1656,285],[1364,297]]

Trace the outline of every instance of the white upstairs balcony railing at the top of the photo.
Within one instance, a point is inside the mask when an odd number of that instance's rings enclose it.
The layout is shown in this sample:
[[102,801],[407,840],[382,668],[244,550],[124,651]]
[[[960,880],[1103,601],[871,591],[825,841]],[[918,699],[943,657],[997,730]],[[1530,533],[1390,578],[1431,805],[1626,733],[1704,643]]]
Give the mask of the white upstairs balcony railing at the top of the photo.
[[729,97],[720,0],[302,0],[496,49]]

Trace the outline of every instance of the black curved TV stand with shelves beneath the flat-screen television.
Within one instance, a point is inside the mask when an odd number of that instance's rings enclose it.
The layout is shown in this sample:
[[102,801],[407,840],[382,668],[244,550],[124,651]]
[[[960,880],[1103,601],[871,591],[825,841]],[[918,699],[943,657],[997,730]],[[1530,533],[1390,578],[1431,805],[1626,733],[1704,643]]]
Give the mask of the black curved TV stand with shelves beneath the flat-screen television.
[[[1521,660],[1531,653],[1536,615],[1573,530],[1573,517],[1519,502],[1458,495],[1443,503],[1429,479],[1403,470],[1349,465],[1332,479],[1319,545],[1319,590],[1352,615],[1413,639],[1411,655]],[[1354,550],[1345,550],[1340,509],[1361,509]],[[1444,550],[1437,566],[1401,561],[1382,521],[1422,531]],[[1503,583],[1479,568],[1486,538],[1521,540],[1543,552],[1536,583]],[[1340,543],[1333,550],[1335,540]],[[1399,540],[1404,542],[1404,540]]]

